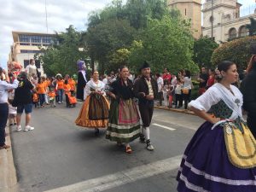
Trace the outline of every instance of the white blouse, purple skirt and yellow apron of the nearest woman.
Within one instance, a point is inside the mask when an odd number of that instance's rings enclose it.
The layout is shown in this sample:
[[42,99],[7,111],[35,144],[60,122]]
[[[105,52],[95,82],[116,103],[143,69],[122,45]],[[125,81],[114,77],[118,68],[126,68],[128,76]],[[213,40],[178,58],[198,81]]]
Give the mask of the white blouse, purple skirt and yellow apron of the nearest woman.
[[214,84],[189,103],[200,110],[211,109],[222,120],[215,125],[205,122],[195,132],[177,173],[177,191],[256,191],[256,142],[242,119],[241,92],[233,85],[231,90],[234,95],[222,84]]

